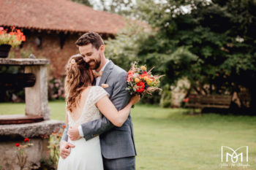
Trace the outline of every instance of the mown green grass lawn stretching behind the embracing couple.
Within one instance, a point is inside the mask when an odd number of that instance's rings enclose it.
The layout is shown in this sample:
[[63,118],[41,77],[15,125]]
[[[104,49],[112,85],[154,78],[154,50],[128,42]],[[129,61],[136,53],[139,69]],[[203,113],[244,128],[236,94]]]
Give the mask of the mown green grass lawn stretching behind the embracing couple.
[[[64,101],[53,101],[49,106],[52,119],[64,120]],[[0,104],[0,115],[23,110],[24,104]],[[137,169],[221,169],[221,146],[234,150],[248,146],[250,166],[246,169],[256,169],[256,117],[187,112],[150,105],[132,109]]]

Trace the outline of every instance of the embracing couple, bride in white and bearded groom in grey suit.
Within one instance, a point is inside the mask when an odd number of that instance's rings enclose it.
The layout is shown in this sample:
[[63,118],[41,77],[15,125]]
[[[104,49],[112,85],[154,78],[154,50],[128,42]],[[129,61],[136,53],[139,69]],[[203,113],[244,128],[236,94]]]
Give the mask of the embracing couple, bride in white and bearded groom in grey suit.
[[99,34],[80,36],[79,55],[66,66],[66,123],[58,169],[135,169],[135,142],[129,115],[139,96],[130,96],[127,72],[105,58]]

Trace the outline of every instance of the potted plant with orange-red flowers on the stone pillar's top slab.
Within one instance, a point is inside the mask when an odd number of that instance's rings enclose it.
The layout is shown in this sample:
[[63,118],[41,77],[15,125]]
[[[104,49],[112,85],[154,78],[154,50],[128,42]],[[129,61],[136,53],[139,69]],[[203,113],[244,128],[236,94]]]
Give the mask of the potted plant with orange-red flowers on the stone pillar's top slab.
[[20,29],[12,26],[12,31],[0,27],[0,58],[7,58],[11,47],[17,47],[26,41],[26,36]]

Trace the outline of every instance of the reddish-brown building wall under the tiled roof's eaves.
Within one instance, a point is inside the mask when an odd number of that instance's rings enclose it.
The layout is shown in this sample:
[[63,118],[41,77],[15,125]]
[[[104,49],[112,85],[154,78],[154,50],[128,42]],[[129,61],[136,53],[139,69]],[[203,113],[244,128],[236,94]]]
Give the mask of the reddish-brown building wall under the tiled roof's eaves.
[[[37,58],[50,59],[48,67],[48,79],[53,77],[63,77],[65,74],[65,65],[70,56],[79,53],[76,47],[76,40],[82,33],[63,34],[56,31],[31,31],[23,30],[26,35],[26,42],[22,47],[11,48],[9,58],[27,58],[33,53]],[[101,34],[103,39],[108,39],[108,34]],[[38,45],[41,39],[42,45]],[[61,39],[64,39],[64,45],[61,48]]]

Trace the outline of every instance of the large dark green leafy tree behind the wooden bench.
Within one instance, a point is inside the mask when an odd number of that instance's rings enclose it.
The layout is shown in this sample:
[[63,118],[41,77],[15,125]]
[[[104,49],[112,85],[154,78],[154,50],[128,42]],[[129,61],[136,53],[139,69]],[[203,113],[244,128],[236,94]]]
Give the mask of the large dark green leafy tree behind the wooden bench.
[[162,85],[187,77],[200,94],[243,86],[255,107],[255,9],[253,0],[138,1],[135,16],[154,31],[135,41],[139,61],[166,75]]

